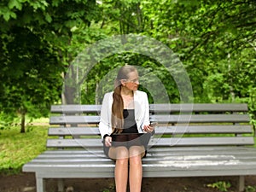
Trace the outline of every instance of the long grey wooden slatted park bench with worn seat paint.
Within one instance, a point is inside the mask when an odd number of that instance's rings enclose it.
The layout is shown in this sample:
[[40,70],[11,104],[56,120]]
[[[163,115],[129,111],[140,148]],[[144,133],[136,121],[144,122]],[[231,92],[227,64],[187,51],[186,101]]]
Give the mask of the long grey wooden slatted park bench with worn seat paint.
[[[54,105],[47,150],[23,166],[35,172],[37,191],[45,178],[113,177],[114,163],[102,152],[100,105]],[[151,104],[158,122],[143,159],[143,177],[256,175],[256,148],[246,104]]]

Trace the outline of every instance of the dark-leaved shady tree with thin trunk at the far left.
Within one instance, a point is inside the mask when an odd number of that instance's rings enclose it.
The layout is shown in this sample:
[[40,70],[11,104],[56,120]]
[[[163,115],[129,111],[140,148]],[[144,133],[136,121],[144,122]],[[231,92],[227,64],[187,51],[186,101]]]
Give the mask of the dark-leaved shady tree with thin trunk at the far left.
[[73,29],[90,26],[94,18],[95,0],[1,3],[1,110],[21,114],[21,132],[26,114],[46,115],[60,101],[61,73],[76,53],[69,47]]

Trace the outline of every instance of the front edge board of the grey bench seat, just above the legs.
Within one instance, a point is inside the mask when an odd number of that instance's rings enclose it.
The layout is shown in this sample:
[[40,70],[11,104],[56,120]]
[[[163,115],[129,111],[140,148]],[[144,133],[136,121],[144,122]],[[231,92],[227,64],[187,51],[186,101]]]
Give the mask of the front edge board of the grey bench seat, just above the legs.
[[[196,169],[189,169],[183,167],[183,169],[177,169],[177,167],[169,167],[158,164],[146,166],[143,165],[143,177],[211,177],[211,176],[247,176],[255,175],[256,168],[255,165],[250,165],[248,167],[246,164],[239,166],[239,169],[226,169],[226,167],[231,166],[211,166],[204,167],[201,169],[196,167]],[[155,167],[155,169],[154,169]],[[219,167],[219,169],[216,169]],[[236,167],[233,165],[233,167]],[[51,177],[51,178],[105,178],[114,177],[114,166],[105,167],[87,167],[87,166],[40,166],[40,165],[30,165],[29,163],[23,166],[24,172],[37,172],[38,177]]]

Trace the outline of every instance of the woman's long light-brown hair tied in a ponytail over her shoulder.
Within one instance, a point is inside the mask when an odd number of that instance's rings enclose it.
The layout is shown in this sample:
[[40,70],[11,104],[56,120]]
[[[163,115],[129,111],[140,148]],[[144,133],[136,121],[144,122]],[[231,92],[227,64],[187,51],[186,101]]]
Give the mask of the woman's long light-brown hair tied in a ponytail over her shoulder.
[[113,133],[120,133],[123,131],[124,126],[124,101],[121,96],[122,79],[129,79],[129,73],[137,71],[136,67],[125,65],[119,69],[117,78],[114,82],[113,90],[113,104],[112,104],[112,117],[111,125]]

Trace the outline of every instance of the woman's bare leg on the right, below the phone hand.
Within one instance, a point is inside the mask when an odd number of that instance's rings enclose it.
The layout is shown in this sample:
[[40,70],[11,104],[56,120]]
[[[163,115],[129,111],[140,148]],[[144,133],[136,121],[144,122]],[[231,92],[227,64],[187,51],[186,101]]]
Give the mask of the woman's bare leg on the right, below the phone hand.
[[130,154],[130,191],[140,192],[142,188],[143,181],[143,164],[142,158],[145,154],[145,149],[143,146],[131,146],[129,148]]

